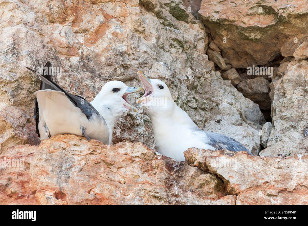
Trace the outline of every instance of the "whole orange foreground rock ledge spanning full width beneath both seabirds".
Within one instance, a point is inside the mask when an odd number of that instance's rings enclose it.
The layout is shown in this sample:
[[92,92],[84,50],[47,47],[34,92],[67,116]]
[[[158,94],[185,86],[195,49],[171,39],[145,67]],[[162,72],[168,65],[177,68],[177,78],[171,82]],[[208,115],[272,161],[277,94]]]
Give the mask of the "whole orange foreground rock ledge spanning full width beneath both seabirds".
[[18,145],[0,155],[25,160],[24,169],[0,170],[0,204],[308,204],[307,156],[184,155],[189,165],[140,142],[75,135]]

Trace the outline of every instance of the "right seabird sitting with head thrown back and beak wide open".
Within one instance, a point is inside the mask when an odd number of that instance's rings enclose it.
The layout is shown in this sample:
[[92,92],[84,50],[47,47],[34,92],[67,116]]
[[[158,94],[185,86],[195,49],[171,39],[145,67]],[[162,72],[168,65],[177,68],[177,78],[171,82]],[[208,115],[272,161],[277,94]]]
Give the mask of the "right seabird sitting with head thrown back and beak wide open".
[[213,132],[205,132],[191,120],[173,101],[167,85],[158,79],[149,79],[141,71],[138,76],[145,93],[136,100],[142,103],[151,118],[156,148],[159,153],[184,161],[184,151],[188,148],[210,150],[247,151],[241,143],[231,137]]

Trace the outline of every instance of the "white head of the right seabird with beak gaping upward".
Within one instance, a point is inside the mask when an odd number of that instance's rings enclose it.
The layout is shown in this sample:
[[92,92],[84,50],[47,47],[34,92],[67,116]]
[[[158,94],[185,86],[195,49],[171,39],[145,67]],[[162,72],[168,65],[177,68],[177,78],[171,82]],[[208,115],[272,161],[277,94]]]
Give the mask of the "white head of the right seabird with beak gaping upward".
[[177,105],[172,99],[168,86],[158,79],[149,79],[141,71],[138,71],[138,76],[144,85],[145,93],[136,102],[143,104],[151,118],[172,116]]

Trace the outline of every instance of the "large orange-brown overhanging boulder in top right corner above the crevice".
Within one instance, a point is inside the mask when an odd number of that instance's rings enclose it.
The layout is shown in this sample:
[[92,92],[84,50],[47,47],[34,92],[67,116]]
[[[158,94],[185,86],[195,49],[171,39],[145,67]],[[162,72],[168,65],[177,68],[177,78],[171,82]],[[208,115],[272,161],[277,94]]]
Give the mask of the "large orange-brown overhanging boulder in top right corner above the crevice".
[[234,68],[293,56],[308,41],[306,0],[202,0],[199,14]]

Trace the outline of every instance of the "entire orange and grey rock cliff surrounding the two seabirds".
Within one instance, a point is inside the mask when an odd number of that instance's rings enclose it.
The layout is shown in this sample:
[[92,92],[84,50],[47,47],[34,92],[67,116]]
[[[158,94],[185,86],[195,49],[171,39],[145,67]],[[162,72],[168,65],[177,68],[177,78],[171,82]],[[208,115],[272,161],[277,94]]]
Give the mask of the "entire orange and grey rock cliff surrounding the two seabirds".
[[[0,166],[0,203],[307,204],[306,0],[0,6],[0,160],[25,164]],[[140,86],[142,70],[168,85],[199,128],[260,156],[193,148],[186,162],[158,155],[136,103],[139,112],[116,123],[114,145],[74,135],[40,143],[32,117],[39,78],[24,66],[46,61],[58,67],[59,85],[88,101],[107,81]],[[249,73],[255,66],[270,71]]]

